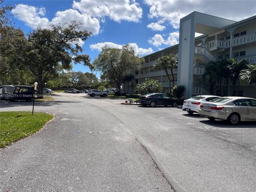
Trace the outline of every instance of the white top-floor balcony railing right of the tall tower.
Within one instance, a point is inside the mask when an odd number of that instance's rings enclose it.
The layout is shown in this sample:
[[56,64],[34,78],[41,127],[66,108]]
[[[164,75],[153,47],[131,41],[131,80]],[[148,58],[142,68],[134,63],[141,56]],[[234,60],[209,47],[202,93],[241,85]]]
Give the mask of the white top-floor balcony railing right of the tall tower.
[[232,42],[230,42],[230,39],[227,39],[227,40],[214,39],[212,41],[206,42],[203,46],[205,46],[210,51],[213,51],[213,50],[217,50],[218,48],[226,49],[226,48],[229,48],[230,46],[243,45],[243,44],[252,43],[252,42],[256,42],[256,33],[234,37],[232,39]]

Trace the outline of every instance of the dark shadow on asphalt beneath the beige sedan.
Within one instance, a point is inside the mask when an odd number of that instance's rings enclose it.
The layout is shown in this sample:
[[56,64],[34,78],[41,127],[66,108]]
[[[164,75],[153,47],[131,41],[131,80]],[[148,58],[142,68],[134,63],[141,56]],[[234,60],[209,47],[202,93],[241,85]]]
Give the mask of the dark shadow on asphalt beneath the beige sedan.
[[256,129],[256,122],[240,122],[238,125],[229,125],[228,122],[222,121],[222,120],[215,120],[215,121],[202,120],[199,122],[204,123],[206,125],[219,127],[219,128],[233,128],[233,129],[254,128]]

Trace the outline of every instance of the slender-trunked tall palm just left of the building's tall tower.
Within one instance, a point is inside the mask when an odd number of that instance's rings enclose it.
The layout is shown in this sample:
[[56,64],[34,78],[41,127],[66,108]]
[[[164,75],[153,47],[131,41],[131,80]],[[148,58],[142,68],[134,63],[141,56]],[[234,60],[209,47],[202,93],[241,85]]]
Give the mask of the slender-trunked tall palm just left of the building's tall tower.
[[[178,57],[175,54],[170,54],[167,56],[163,56],[161,58],[157,59],[157,62],[154,65],[155,69],[158,70],[164,70],[166,73],[166,76],[169,80],[169,88],[170,88],[170,93],[173,92],[173,87],[174,87],[174,75],[173,75],[173,69],[178,68]],[[168,69],[171,69],[171,74],[172,74],[172,88],[171,88],[171,78],[168,73]]]

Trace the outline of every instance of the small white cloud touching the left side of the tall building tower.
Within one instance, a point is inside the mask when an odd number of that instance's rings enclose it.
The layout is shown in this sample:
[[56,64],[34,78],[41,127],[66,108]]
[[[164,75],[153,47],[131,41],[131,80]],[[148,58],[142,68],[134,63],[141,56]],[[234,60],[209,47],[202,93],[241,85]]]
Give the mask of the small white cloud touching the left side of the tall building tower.
[[148,43],[156,47],[159,47],[161,45],[169,45],[169,46],[176,45],[179,43],[179,32],[175,31],[170,33],[167,39],[164,39],[164,37],[160,34],[156,34],[154,37],[148,40]]

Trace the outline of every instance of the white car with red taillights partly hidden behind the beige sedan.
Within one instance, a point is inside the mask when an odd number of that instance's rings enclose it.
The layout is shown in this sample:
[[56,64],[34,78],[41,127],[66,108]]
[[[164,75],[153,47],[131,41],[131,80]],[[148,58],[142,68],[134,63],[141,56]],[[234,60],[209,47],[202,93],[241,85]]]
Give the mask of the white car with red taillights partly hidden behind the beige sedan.
[[182,110],[187,111],[189,115],[193,113],[198,113],[199,106],[202,102],[211,101],[215,98],[219,98],[219,96],[215,95],[198,95],[195,97],[191,97],[183,101]]

